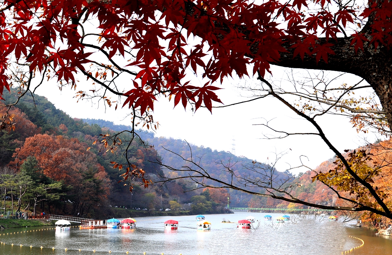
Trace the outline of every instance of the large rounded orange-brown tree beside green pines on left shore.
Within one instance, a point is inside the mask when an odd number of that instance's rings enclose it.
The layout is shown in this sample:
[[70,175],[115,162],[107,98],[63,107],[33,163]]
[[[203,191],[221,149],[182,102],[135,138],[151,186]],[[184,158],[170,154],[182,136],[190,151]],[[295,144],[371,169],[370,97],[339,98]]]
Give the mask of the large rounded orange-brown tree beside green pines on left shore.
[[[58,193],[62,194],[63,198],[66,195],[67,199],[72,199],[71,213],[83,215],[92,207],[103,203],[110,194],[110,180],[105,169],[97,162],[96,154],[86,149],[87,145],[75,138],[38,134],[27,138],[24,145],[15,150],[14,161],[11,164],[20,166],[20,171],[23,171],[25,164],[30,165],[31,158],[34,158],[33,168],[38,167],[40,171],[33,171],[32,174],[39,173],[40,176],[33,179],[47,180],[39,181],[45,183],[45,187],[34,187],[35,191],[29,190],[29,193],[36,194],[32,196],[34,205],[39,201],[58,200],[58,196],[52,195],[49,199],[49,191],[46,190],[60,190],[64,186],[68,187],[68,192],[62,190]],[[57,182],[62,183],[54,188],[54,183]],[[42,196],[37,198],[40,192]]]

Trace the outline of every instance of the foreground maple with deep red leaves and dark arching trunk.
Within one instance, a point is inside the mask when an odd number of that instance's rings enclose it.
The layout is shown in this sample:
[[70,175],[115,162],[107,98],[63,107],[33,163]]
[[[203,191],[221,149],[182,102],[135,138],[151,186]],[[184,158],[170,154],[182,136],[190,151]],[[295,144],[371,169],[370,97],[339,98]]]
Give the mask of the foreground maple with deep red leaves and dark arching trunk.
[[[370,210],[392,217],[377,187],[356,174],[350,160],[330,144],[316,116],[296,108],[265,79],[270,65],[358,75],[374,90],[381,110],[357,109],[351,107],[351,101],[336,106],[341,102],[339,99],[322,103],[331,103],[331,108],[347,106],[354,113],[382,115],[379,120],[386,125],[381,126],[389,126],[392,122],[390,1],[11,0],[3,2],[0,10],[3,17],[0,21],[3,41],[0,95],[4,88],[9,90],[11,84],[20,88],[16,101],[6,102],[8,107],[46,80],[57,79],[60,88],[68,83],[76,89],[79,77],[83,77],[94,87],[78,91],[78,98],[98,98],[109,107],[115,104],[117,108],[120,103],[130,109],[132,129],[125,132],[132,134],[129,141],[132,142],[136,125],[157,128],[151,114],[155,100],[174,96],[174,106],[181,102],[184,108],[190,107],[193,111],[202,106],[211,111],[213,102],[221,102],[215,93],[219,88],[214,83],[224,83],[225,77],[232,75],[243,78],[249,75],[250,67],[250,75],[257,75],[265,86],[261,90],[267,92],[260,98],[272,96],[309,121],[317,130],[313,135],[320,136],[338,156],[340,172],[347,171],[346,176],[354,180],[359,190],[363,188],[380,206],[369,207],[352,200],[357,207],[345,209]],[[192,82],[194,75],[202,83]],[[131,83],[118,85],[125,80]],[[355,86],[341,90],[349,93]],[[112,100],[108,94],[118,99]],[[306,94],[318,96],[319,92]],[[306,105],[305,108],[311,109]],[[1,120],[3,128],[14,124],[9,111]],[[389,133],[389,127],[386,131]],[[119,139],[116,135],[104,136],[100,142],[103,149],[113,150]],[[352,160],[353,157],[368,158],[358,151],[352,154]],[[129,176],[140,177],[148,186],[151,181],[144,178],[142,169],[129,162],[127,155],[126,159],[126,180],[131,179]],[[114,163],[114,166],[120,165]],[[264,174],[265,169],[253,171]],[[203,170],[200,172],[218,183],[225,183],[223,187],[234,187],[230,180],[221,181]],[[282,183],[240,177],[253,185],[266,185],[279,194],[265,196],[301,202],[290,197],[288,186]],[[334,176],[327,176],[328,180],[331,178]],[[280,196],[282,192],[284,196]]]

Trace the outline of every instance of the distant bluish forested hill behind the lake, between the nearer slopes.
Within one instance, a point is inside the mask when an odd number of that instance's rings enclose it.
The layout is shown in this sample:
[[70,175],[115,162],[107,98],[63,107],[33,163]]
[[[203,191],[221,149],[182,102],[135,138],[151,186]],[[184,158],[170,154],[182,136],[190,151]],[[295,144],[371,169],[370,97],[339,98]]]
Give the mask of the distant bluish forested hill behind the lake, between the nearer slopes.
[[[83,119],[85,122],[89,124],[100,124],[115,131],[121,131],[123,129],[130,130],[131,127],[124,125],[115,125],[113,122],[105,121],[105,120],[95,120],[95,119]],[[212,178],[216,178],[222,181],[226,181],[230,183],[231,175],[225,169],[225,167],[230,167],[230,169],[234,172],[235,176],[247,176],[249,175],[249,170],[244,166],[253,165],[253,160],[243,157],[243,156],[235,156],[234,154],[227,151],[217,151],[211,149],[209,147],[197,146],[194,144],[188,144],[186,141],[181,139],[173,139],[166,138],[163,136],[157,137],[153,132],[147,132],[139,130],[138,134],[142,138],[143,141],[147,142],[149,145],[154,145],[154,149],[158,151],[158,154],[162,158],[162,163],[173,167],[175,169],[181,169],[184,165],[189,167],[192,166],[191,163],[184,162],[183,159],[191,160],[191,150],[192,150],[192,158],[195,163],[199,163],[200,167],[202,167]],[[178,154],[178,155],[177,155]],[[261,164],[261,166],[266,169],[269,166]],[[197,169],[197,167],[193,167]],[[172,172],[168,169],[163,169],[165,176],[176,177],[176,176],[185,176],[188,175],[189,172]],[[287,179],[291,176],[290,172],[279,172],[275,171],[274,178],[276,179]],[[235,178],[234,178],[235,179]],[[210,185],[216,185],[212,181],[207,181]],[[263,189],[254,188],[253,191],[263,192]],[[235,190],[230,190],[230,204],[233,207],[247,207],[248,202],[252,198],[252,195],[244,194],[243,192],[238,192]],[[274,202],[278,204],[279,201]]]

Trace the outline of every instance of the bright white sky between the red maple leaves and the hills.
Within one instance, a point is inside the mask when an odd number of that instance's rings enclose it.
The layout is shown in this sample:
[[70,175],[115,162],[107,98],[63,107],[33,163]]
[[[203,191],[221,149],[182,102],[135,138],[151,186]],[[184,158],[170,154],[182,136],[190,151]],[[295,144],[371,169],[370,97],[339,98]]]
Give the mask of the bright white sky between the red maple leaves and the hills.
[[[282,75],[282,70],[283,68],[273,67],[274,77]],[[347,75],[345,79],[345,83],[349,85],[359,80],[354,75]],[[83,88],[82,83],[85,79],[80,81],[76,90],[91,89],[87,86]],[[236,88],[236,85],[244,82],[249,83],[251,81],[249,78],[247,80],[227,79],[223,85],[214,84],[214,86],[225,88],[217,92],[218,97],[224,104],[231,104],[244,100],[243,97],[240,97],[240,92]],[[121,108],[119,105],[116,111],[114,111],[114,107],[107,107],[105,112],[102,102],[100,102],[99,107],[98,104],[93,104],[91,101],[79,101],[77,103],[76,99],[73,98],[75,91],[67,87],[60,91],[54,80],[43,84],[36,90],[36,93],[46,97],[56,108],[65,111],[71,117],[105,119],[113,121],[114,124],[131,125],[131,119],[125,118],[129,113],[127,107]],[[242,155],[265,163],[274,162],[274,153],[287,152],[277,164],[279,171],[284,171],[290,166],[299,165],[299,156],[301,155],[309,158],[309,162],[305,160],[303,163],[312,168],[334,156],[334,153],[316,136],[298,135],[284,139],[262,139],[263,134],[270,134],[271,132],[262,126],[254,125],[265,123],[265,120],[260,118],[273,119],[270,124],[274,128],[284,131],[312,130],[307,127],[305,121],[299,120],[276,99],[259,99],[227,108],[217,108],[212,110],[212,115],[205,108],[200,108],[192,114],[190,110],[184,110],[181,102],[174,109],[173,106],[173,101],[168,102],[164,98],[154,104],[154,120],[160,123],[156,136],[183,139],[192,144],[211,147],[211,149],[218,151],[231,151],[232,139],[234,138],[237,156]],[[363,135],[358,135],[356,130],[351,127],[352,125],[348,119],[334,115],[323,116],[320,120],[319,124],[324,128],[327,137],[339,151],[354,149],[364,144]],[[370,142],[374,142],[376,139],[374,135],[367,136]],[[306,170],[297,169],[292,172],[298,173]]]

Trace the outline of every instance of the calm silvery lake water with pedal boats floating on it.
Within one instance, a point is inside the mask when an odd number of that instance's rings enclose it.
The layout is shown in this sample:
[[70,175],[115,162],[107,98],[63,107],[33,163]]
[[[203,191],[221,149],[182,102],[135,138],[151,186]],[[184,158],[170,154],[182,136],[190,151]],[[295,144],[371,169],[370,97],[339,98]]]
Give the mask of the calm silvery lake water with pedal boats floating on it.
[[[223,218],[233,222],[249,215],[260,221],[260,225],[253,223],[258,226],[256,229],[238,229],[236,224],[221,223]],[[143,252],[147,255],[341,255],[362,243],[350,236],[365,242],[350,255],[392,255],[392,237],[375,235],[371,230],[314,216],[291,215],[291,221],[279,224],[264,221],[263,215],[205,215],[212,223],[210,231],[198,231],[194,215],[138,217],[132,230],[74,227],[69,232],[56,232],[53,227],[12,228],[0,231],[3,242],[0,255],[124,255],[127,251],[131,255],[143,255]],[[270,215],[275,219],[283,214]],[[179,221],[178,230],[165,231],[163,222],[167,219]]]

